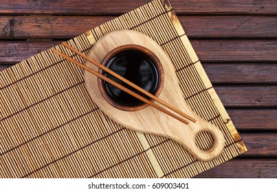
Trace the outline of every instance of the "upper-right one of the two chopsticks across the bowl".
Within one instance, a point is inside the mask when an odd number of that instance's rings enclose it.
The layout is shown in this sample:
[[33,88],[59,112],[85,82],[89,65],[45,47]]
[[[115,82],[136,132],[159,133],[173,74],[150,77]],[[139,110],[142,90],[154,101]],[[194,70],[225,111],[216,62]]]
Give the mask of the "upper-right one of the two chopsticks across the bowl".
[[177,108],[170,106],[170,104],[166,103],[165,101],[163,101],[162,99],[159,99],[158,97],[156,97],[155,95],[152,95],[151,93],[149,93],[148,91],[145,91],[143,88],[140,88],[140,86],[137,86],[136,84],[133,84],[132,82],[130,82],[129,80],[126,80],[124,77],[118,75],[118,73],[115,73],[113,71],[111,71],[111,69],[104,67],[104,65],[96,62],[96,60],[93,60],[92,58],[89,58],[88,56],[86,56],[84,53],[78,51],[77,49],[75,49],[74,47],[71,47],[70,45],[68,45],[67,43],[63,42],[62,43],[63,46],[67,47],[68,49],[70,49],[71,51],[74,51],[75,53],[77,53],[79,56],[81,56],[82,58],[85,58],[86,60],[88,60],[89,62],[95,64],[97,67],[99,67],[100,69],[106,71],[107,73],[113,75],[114,77],[116,77],[118,80],[121,80],[122,82],[128,84],[129,86],[135,88],[137,91],[140,91],[141,93],[143,93],[144,95],[150,97],[151,99],[159,102],[160,104],[166,106],[167,108],[170,108],[170,110],[173,110],[174,112],[177,112],[177,114],[186,117],[187,119],[189,119],[192,122],[196,122],[196,119],[190,117],[189,115],[186,115],[186,113],[181,112],[181,110],[178,110]]

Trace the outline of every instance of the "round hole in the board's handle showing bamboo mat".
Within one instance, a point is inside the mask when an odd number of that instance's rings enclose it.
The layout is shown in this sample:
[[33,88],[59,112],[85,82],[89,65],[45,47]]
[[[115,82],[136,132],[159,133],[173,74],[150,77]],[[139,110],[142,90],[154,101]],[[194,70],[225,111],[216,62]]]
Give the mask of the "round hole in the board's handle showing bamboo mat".
[[214,145],[214,139],[209,132],[199,132],[195,138],[195,144],[199,149],[208,150]]

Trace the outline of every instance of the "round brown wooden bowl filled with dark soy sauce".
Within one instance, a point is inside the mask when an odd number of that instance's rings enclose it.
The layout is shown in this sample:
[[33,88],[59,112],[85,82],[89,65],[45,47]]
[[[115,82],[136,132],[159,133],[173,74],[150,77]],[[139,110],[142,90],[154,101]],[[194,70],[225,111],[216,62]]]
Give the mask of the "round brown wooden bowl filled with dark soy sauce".
[[[143,49],[144,50],[144,49]],[[153,53],[151,53],[153,54]],[[155,95],[157,91],[161,89],[161,74],[163,74],[162,67],[157,64],[157,59],[153,59],[153,55],[149,55],[148,51],[142,51],[141,49],[123,49],[113,54],[104,64],[107,68],[111,69],[118,75],[124,77],[126,80],[133,82],[137,86],[140,86],[145,91]],[[107,72],[102,72],[103,75],[109,77],[109,79],[118,82],[122,86],[129,88],[131,91],[145,97],[143,93],[135,90],[128,84],[121,82],[113,75]],[[143,101],[121,91],[119,88],[100,80],[100,88],[102,95],[108,98],[110,104],[120,108],[122,110],[137,110],[144,108],[147,104]],[[104,91],[104,93],[103,93]]]

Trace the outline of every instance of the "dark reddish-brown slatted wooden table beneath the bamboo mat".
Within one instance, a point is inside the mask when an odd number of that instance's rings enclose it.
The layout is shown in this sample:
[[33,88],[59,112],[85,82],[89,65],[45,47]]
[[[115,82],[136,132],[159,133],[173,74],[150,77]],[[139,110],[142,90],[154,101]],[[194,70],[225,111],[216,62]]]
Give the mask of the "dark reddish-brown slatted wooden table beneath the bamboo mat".
[[[1,0],[0,71],[147,2]],[[277,1],[171,3],[248,149],[197,178],[277,178]]]

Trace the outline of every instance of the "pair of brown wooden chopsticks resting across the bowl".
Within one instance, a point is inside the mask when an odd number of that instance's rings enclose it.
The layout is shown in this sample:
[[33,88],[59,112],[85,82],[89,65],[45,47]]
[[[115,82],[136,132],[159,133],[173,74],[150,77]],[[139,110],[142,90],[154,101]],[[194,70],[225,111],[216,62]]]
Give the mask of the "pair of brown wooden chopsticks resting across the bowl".
[[[74,53],[78,54],[79,56],[81,56],[82,58],[85,58],[85,60],[88,60],[89,62],[91,62],[92,64],[95,64],[97,67],[99,67],[100,69],[106,71],[107,73],[113,75],[114,77],[118,78],[118,80],[128,84],[129,86],[135,88],[137,91],[140,91],[141,93],[143,93],[144,95],[150,97],[151,99],[159,102],[160,104],[166,106],[167,108],[170,108],[170,110],[173,110],[174,112],[176,112],[177,114],[189,119],[192,122],[196,122],[195,119],[193,119],[192,117],[190,117],[189,115],[186,115],[184,112],[181,112],[181,110],[178,110],[177,108],[174,108],[173,106],[170,106],[170,104],[167,104],[165,101],[162,101],[162,99],[159,99],[158,97],[156,97],[155,95],[152,95],[151,93],[145,91],[143,88],[140,88],[139,86],[133,84],[132,82],[130,82],[129,80],[126,80],[124,77],[118,75],[118,73],[115,73],[113,71],[111,71],[110,69],[108,69],[107,67],[104,67],[104,65],[96,62],[96,60],[93,60],[91,58],[89,58],[88,56],[86,56],[84,53],[78,51],[77,49],[75,49],[74,47],[71,47],[70,45],[68,45],[67,43],[63,42],[62,43],[63,46],[67,47],[68,49],[70,49],[71,51],[73,51]],[[78,62],[77,60],[74,60],[73,58],[65,55],[65,53],[62,53],[60,51],[58,51],[57,49],[52,49],[52,51],[56,54],[58,54],[59,56],[65,58],[66,60],[69,60],[70,62],[73,62],[74,64],[77,64],[79,67],[81,67],[82,69],[89,71],[89,73],[92,73],[93,75],[96,75],[97,77],[99,77],[100,79],[104,80],[105,82],[108,82],[109,84],[112,84],[113,86],[121,89],[122,91],[129,93],[130,95],[132,95],[133,97],[140,99],[141,101],[143,101],[144,103],[153,106],[154,108],[156,108],[157,110],[160,110],[164,113],[166,113],[167,115],[170,115],[171,117],[186,123],[188,125],[188,121],[181,119],[179,116],[173,114],[172,112],[162,108],[161,106],[155,104],[152,101],[149,101],[148,99],[142,97],[141,95],[138,95],[137,93],[131,91],[129,88],[126,88],[124,86],[122,86],[121,84],[118,84],[117,82],[114,82],[113,80],[109,79],[108,77],[102,75],[101,73],[98,73],[97,71],[94,71],[93,69],[85,66],[85,64],[82,64],[80,62]]]

